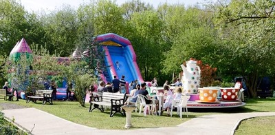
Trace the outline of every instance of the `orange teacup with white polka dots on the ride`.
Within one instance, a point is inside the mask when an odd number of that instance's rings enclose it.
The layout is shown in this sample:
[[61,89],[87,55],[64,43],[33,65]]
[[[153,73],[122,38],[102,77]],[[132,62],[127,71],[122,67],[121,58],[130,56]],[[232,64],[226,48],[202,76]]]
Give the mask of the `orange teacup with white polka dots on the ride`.
[[202,102],[214,102],[217,99],[219,89],[204,87],[199,88],[199,100]]

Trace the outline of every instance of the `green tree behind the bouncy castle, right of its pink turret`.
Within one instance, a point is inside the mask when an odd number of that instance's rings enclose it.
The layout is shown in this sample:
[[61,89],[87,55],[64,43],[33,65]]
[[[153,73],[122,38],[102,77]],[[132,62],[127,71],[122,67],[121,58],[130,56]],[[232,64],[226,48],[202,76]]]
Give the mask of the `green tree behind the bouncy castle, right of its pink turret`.
[[77,12],[71,6],[64,5],[41,18],[45,28],[46,48],[50,54],[56,52],[69,56],[76,48],[78,39]]

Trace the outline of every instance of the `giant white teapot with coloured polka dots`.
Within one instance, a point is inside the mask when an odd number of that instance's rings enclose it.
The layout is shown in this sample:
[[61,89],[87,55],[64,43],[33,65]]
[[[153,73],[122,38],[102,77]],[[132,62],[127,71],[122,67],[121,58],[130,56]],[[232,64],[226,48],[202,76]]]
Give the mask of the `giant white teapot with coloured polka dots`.
[[199,84],[201,83],[201,69],[197,65],[197,61],[186,61],[186,67],[181,65],[181,68],[184,71],[184,76],[181,79],[184,93],[197,94]]

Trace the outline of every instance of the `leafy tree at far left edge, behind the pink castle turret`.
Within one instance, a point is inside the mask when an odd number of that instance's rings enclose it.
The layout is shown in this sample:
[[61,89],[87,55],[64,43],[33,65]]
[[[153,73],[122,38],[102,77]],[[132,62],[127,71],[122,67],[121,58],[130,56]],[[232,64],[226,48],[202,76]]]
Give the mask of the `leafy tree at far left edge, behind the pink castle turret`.
[[[36,14],[26,12],[23,6],[15,0],[0,1],[0,24],[0,71],[4,70],[10,51],[22,37],[29,43],[44,43],[41,21]],[[0,74],[1,79],[6,79],[5,72],[0,72]]]

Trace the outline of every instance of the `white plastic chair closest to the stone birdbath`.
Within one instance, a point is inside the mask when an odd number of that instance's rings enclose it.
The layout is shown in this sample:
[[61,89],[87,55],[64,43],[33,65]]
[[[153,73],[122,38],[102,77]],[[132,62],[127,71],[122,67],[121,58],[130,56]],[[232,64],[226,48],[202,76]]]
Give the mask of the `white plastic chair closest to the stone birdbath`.
[[146,104],[145,98],[148,99],[146,96],[142,95],[142,94],[138,94],[137,95],[138,98],[140,98],[140,114],[142,113],[142,107],[144,106],[144,116],[146,116],[146,112],[148,110],[148,114],[150,115],[150,107],[153,108],[153,112],[152,114],[157,115],[157,105],[155,104],[155,100],[151,99],[153,102],[151,104]]

